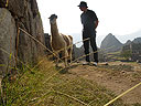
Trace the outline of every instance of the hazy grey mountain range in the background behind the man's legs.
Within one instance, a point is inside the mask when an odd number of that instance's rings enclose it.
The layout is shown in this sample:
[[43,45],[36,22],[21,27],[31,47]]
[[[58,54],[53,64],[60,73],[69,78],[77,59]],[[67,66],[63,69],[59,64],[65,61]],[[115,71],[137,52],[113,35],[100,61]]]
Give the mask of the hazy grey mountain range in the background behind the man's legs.
[[[115,35],[109,33],[101,42],[100,50],[98,49],[98,57],[99,61],[105,61],[106,54],[111,52],[121,52],[123,46],[129,46],[131,43],[140,43],[141,44],[141,38],[135,38],[134,40],[128,40],[124,44],[122,44]],[[89,49],[90,52],[93,52],[91,47]],[[74,55],[73,57],[78,59],[82,55],[84,55],[84,46],[77,47],[74,44]],[[85,57],[83,57],[84,60]],[[93,60],[93,55],[90,55],[90,59]],[[111,60],[111,59],[109,59]],[[108,59],[107,59],[108,61]]]

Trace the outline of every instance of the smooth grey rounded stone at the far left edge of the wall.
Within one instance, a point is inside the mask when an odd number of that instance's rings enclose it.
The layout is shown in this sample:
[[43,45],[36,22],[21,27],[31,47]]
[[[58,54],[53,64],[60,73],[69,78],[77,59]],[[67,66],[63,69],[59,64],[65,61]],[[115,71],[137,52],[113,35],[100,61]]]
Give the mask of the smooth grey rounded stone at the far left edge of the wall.
[[[7,72],[7,67],[13,67],[15,65],[15,21],[11,13],[0,8],[0,75]],[[10,55],[12,55],[10,57]],[[10,68],[9,68],[10,70]]]

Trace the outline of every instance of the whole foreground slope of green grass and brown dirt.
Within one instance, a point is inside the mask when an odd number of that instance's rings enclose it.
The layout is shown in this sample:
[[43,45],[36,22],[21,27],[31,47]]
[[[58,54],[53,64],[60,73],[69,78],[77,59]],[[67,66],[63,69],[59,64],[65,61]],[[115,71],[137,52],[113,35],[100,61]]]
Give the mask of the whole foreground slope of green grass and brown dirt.
[[[135,63],[112,62],[109,65],[99,63],[97,67],[73,63],[65,70],[62,64],[56,68],[43,59],[37,68],[24,68],[24,73],[2,81],[1,103],[14,106],[104,106],[141,82],[140,68]],[[113,102],[112,106],[140,106],[140,87]]]

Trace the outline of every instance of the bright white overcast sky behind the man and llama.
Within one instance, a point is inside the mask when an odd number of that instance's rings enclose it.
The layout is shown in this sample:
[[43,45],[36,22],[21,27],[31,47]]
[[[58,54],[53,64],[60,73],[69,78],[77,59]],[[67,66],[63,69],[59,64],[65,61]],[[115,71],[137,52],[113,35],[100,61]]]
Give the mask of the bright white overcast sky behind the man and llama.
[[[36,1],[45,33],[51,34],[48,17],[55,13],[58,17],[57,25],[59,33],[73,35],[74,43],[82,41],[82,11],[77,7],[82,0]],[[131,35],[131,33],[141,31],[141,0],[83,1],[87,2],[88,9],[94,10],[99,19],[99,24],[97,28],[98,46],[109,33],[112,33],[120,39],[120,36],[122,38],[123,35]],[[121,42],[126,43],[127,40],[121,40]],[[78,46],[80,44],[78,44]]]

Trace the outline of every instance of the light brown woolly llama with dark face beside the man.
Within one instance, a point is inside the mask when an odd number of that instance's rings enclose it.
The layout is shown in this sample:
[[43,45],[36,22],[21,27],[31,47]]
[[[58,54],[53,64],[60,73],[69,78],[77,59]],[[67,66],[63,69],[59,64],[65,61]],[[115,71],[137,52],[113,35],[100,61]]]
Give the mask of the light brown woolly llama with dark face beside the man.
[[67,61],[69,60],[72,62],[73,38],[70,35],[58,33],[56,14],[52,14],[48,19],[51,24],[51,46],[53,52],[57,56],[56,65],[58,65],[58,51],[61,51],[62,57],[64,57],[65,60],[65,66],[67,66]]

